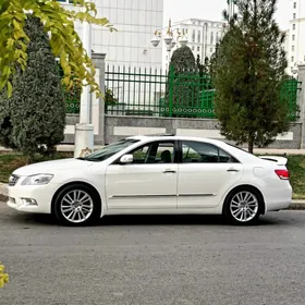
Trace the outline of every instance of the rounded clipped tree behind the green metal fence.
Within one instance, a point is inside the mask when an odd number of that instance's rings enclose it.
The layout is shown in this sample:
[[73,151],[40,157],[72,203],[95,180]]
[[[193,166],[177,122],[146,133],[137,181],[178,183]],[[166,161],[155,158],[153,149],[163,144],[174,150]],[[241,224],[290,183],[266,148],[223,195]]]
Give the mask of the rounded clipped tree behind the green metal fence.
[[195,57],[187,46],[183,46],[174,50],[171,57],[166,91],[167,103],[180,108],[195,106],[198,90],[199,77]]

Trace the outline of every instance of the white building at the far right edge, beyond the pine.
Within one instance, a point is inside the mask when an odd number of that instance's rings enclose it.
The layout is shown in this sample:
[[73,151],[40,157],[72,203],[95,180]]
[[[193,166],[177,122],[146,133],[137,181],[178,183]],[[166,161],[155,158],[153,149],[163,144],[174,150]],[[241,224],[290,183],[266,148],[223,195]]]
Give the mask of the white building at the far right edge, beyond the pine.
[[291,20],[288,33],[289,70],[305,62],[305,1],[291,0]]

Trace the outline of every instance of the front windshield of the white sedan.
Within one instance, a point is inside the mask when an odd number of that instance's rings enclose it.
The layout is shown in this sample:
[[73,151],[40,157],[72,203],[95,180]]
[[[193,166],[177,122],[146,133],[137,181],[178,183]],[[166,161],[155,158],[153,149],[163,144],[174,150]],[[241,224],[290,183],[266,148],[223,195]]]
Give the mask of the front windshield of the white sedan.
[[119,142],[112,143],[110,145],[105,146],[103,148],[86,156],[78,158],[81,160],[87,160],[87,161],[105,161],[108,158],[114,156],[115,154],[120,152],[124,148],[127,148],[129,146],[133,145],[134,143],[138,142],[138,139],[135,138],[124,138]]

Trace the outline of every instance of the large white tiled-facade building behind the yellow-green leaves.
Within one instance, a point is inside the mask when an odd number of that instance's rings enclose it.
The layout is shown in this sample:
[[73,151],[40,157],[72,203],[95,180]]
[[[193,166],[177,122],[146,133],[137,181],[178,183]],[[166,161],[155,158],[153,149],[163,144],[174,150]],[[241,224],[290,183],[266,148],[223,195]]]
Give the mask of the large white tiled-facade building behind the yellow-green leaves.
[[[152,47],[151,36],[163,23],[163,0],[91,0],[98,17],[107,17],[118,32],[93,26],[93,50],[106,53],[106,62],[132,68],[162,66],[162,50]],[[59,0],[73,8],[72,0]],[[75,10],[75,8],[73,8]],[[82,38],[82,23],[75,28]]]

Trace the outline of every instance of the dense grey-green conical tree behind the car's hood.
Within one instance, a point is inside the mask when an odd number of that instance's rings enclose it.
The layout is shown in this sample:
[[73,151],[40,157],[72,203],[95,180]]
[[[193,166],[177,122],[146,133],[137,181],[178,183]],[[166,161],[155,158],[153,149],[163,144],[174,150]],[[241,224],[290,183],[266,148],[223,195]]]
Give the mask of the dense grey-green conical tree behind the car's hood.
[[0,94],[0,144],[33,159],[36,152],[53,149],[64,138],[65,102],[56,58],[39,19],[28,16],[24,26],[29,37],[24,72],[16,68],[8,98]]

